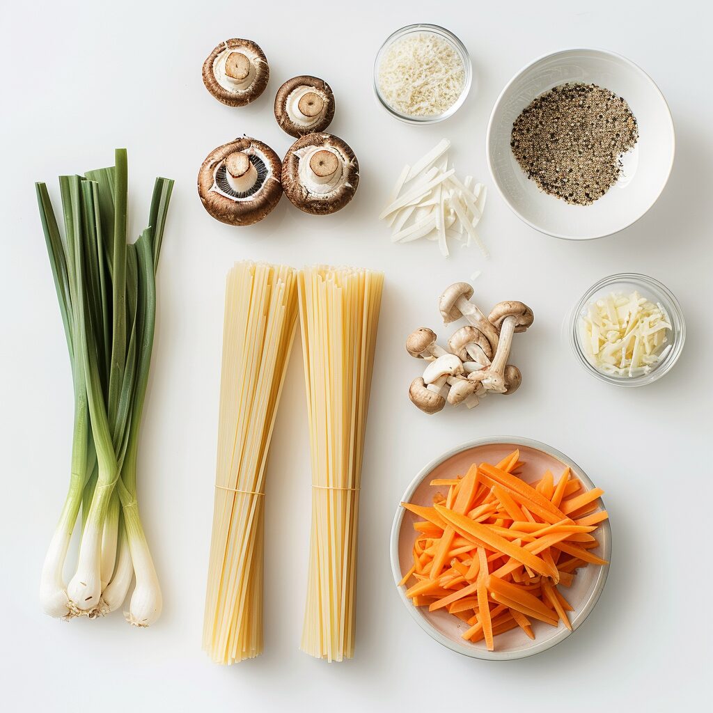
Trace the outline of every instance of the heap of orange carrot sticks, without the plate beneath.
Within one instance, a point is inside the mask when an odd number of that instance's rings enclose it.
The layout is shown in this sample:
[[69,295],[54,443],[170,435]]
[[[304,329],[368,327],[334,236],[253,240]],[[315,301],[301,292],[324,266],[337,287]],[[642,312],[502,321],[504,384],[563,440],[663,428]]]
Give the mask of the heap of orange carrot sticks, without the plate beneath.
[[[401,503],[422,518],[413,523],[413,565],[400,585],[417,607],[444,610],[467,622],[463,639],[496,647],[499,634],[532,620],[572,629],[574,608],[558,588],[580,568],[605,565],[594,554],[596,530],[607,519],[602,491],[583,491],[569,468],[555,484],[550,471],[526,483],[515,451],[498,463],[473,465],[465,476],[434,478],[433,507]],[[409,585],[411,582],[411,585]]]

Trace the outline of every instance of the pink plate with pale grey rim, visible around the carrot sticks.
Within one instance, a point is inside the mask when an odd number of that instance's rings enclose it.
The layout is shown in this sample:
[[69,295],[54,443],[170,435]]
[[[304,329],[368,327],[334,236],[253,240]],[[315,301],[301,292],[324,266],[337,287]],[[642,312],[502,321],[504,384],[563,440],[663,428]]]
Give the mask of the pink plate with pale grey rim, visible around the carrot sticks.
[[[530,438],[493,436],[463,443],[429,463],[406,488],[401,502],[431,506],[436,491],[436,488],[429,485],[433,478],[454,478],[456,475],[462,475],[472,463],[497,463],[515,448],[520,448],[521,460],[525,461],[521,474],[524,481],[537,480],[549,468],[556,482],[565,466],[569,466],[573,474],[580,478],[586,491],[595,487],[582,468],[555,448]],[[404,576],[403,573],[413,564],[412,551],[416,540],[414,522],[420,519],[400,505],[396,508],[394,524],[391,526],[391,572],[396,585]],[[600,525],[596,534],[600,546],[592,551],[608,561],[612,549],[609,520]],[[574,608],[574,611],[570,612],[573,630],[576,631],[593,610],[604,589],[608,571],[608,566],[588,565],[578,570],[570,588],[563,589],[565,597]],[[496,650],[488,651],[482,641],[472,643],[461,638],[463,631],[468,628],[465,622],[443,610],[429,612],[426,607],[414,607],[406,597],[406,587],[401,586],[398,589],[401,601],[421,629],[438,643],[466,656],[493,661],[520,659],[545,651],[570,635],[570,631],[562,624],[555,629],[543,622],[533,621],[534,641],[520,629],[513,629],[498,635]]]

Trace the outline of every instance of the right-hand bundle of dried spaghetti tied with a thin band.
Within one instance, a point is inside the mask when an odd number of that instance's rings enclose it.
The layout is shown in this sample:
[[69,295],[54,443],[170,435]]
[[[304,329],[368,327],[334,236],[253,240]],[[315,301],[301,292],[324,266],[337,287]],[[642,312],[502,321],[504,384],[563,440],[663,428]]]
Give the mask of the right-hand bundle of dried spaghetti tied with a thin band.
[[302,650],[354,654],[359,483],[384,275],[308,267],[299,275],[312,451],[312,535]]

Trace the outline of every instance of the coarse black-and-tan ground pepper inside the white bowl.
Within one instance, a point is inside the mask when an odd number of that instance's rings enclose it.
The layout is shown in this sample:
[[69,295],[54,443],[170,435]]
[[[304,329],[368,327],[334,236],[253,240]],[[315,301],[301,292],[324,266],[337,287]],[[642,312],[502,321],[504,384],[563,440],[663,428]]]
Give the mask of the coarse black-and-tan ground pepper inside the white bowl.
[[548,193],[591,205],[621,173],[621,156],[639,138],[624,98],[596,84],[563,84],[540,94],[513,123],[520,168]]

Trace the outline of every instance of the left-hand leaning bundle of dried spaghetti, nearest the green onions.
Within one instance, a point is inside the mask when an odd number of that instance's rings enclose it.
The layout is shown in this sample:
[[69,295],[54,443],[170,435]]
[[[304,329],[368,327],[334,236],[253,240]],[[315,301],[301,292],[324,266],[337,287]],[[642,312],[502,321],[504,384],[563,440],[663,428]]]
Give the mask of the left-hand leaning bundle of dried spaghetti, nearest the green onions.
[[227,278],[215,503],[203,648],[217,663],[262,653],[265,466],[297,327],[297,273],[238,262]]

